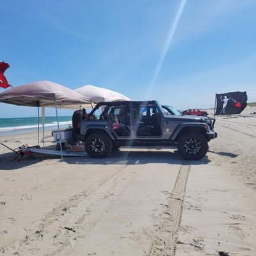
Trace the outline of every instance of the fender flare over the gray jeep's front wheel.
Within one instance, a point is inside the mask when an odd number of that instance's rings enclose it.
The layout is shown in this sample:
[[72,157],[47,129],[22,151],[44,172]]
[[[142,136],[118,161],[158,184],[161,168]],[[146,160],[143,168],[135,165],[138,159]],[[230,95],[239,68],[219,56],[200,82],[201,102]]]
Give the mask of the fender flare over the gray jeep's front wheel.
[[170,140],[177,141],[179,140],[180,136],[188,131],[199,131],[200,133],[205,134],[207,130],[205,129],[204,123],[183,123],[176,127],[173,133],[170,136]]

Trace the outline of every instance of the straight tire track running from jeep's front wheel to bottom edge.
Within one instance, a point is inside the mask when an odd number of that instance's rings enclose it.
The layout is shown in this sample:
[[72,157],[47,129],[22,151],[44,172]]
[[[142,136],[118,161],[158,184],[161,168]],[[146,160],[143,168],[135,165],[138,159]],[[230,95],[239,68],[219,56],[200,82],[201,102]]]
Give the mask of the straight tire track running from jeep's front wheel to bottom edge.
[[166,211],[161,216],[156,235],[153,237],[147,256],[173,256],[177,243],[177,231],[182,217],[184,196],[191,165],[180,166],[173,192],[170,193]]

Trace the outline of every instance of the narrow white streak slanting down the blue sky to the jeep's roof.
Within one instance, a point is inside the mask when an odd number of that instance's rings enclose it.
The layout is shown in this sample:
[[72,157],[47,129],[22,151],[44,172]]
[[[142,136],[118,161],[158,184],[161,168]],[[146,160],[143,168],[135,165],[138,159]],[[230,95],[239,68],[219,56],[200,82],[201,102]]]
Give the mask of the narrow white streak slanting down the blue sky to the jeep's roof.
[[159,76],[159,72],[160,72],[160,70],[161,70],[161,68],[163,66],[164,58],[165,58],[166,53],[167,53],[167,51],[168,51],[168,49],[170,47],[173,35],[174,35],[174,33],[175,33],[176,29],[177,29],[177,26],[179,24],[179,20],[180,20],[180,17],[182,15],[182,12],[184,10],[186,1],[187,0],[182,0],[180,2],[179,9],[178,9],[178,11],[177,11],[177,13],[175,15],[175,19],[173,20],[173,23],[172,23],[172,26],[170,28],[168,37],[167,37],[166,42],[164,44],[163,51],[162,51],[161,56],[159,58],[159,61],[157,63],[156,70],[154,72],[154,76],[152,77],[152,81],[151,81],[150,86],[148,88],[147,98],[146,99],[149,99],[149,97],[151,97],[151,95],[152,95],[152,91],[154,90],[154,87],[156,85],[157,77]]

